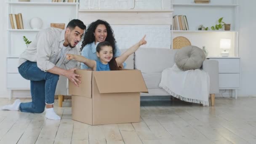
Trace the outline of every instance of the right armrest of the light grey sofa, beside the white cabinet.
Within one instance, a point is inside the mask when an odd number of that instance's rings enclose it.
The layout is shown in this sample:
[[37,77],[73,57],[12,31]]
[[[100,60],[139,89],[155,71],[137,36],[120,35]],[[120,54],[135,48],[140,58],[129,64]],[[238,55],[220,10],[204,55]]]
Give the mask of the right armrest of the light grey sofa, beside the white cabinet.
[[203,70],[210,76],[210,94],[219,93],[219,62],[206,59],[203,61]]

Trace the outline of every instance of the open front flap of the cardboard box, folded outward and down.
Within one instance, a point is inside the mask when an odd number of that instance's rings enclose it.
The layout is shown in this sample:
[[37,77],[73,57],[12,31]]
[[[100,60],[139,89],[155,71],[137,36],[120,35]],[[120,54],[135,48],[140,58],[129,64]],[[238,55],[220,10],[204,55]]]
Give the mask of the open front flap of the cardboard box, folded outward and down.
[[148,92],[139,70],[93,72],[99,93]]

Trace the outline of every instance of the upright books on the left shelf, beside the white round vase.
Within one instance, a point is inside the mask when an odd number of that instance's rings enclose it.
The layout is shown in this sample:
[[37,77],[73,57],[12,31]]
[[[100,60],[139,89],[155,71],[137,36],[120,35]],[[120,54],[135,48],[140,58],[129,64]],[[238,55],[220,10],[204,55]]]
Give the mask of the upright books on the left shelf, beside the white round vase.
[[9,14],[11,29],[24,29],[21,13]]

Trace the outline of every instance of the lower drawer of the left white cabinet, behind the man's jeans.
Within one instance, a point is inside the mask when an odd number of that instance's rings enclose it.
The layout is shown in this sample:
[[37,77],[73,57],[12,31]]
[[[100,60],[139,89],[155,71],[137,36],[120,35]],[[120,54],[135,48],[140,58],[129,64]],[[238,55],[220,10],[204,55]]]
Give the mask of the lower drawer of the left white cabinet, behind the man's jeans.
[[7,88],[30,88],[30,81],[19,73],[7,74]]

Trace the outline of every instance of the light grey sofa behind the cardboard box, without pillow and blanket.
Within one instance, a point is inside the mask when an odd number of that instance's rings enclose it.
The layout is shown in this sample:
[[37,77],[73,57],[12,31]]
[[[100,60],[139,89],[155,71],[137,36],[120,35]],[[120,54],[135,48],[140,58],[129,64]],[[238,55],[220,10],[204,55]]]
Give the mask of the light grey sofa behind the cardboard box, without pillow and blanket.
[[[126,49],[121,49],[122,52]],[[179,50],[169,48],[139,48],[135,54],[125,61],[126,69],[139,69],[144,77],[149,93],[141,96],[169,96],[162,88],[158,87],[162,71],[172,67],[175,63],[175,54]],[[219,93],[219,64],[218,61],[205,59],[203,70],[210,75],[211,105],[214,106],[215,93]]]

